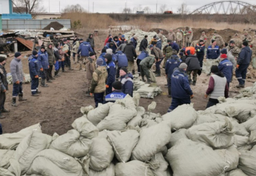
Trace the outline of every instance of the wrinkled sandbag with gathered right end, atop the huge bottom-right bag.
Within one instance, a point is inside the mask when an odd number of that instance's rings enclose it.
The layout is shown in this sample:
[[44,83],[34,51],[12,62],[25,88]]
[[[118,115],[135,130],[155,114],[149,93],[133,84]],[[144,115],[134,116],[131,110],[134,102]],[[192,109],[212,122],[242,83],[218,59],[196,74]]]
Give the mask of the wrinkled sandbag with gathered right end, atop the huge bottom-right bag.
[[234,131],[231,121],[203,123],[193,126],[186,131],[187,137],[192,141],[200,141],[215,149],[230,147],[233,144]]

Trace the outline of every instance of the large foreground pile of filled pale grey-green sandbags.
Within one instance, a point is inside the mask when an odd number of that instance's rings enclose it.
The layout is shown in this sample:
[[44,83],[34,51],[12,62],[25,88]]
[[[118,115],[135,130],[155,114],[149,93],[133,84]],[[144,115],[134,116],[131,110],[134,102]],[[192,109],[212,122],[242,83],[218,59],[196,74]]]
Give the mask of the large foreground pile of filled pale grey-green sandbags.
[[[139,106],[140,95],[81,107],[72,130],[42,133],[39,124],[0,136],[4,176],[256,174],[256,83],[251,97],[225,99],[204,111],[183,104],[170,113]],[[244,91],[245,91],[244,90]]]

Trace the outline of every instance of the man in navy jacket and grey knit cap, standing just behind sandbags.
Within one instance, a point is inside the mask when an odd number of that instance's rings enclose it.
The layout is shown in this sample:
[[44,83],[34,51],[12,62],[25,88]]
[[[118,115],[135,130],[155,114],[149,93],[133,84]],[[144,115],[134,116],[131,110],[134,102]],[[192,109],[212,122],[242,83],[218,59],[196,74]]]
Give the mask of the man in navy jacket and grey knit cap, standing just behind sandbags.
[[190,104],[194,95],[188,82],[188,76],[186,74],[187,65],[181,63],[171,75],[171,106],[168,112],[173,111],[176,107],[182,104]]

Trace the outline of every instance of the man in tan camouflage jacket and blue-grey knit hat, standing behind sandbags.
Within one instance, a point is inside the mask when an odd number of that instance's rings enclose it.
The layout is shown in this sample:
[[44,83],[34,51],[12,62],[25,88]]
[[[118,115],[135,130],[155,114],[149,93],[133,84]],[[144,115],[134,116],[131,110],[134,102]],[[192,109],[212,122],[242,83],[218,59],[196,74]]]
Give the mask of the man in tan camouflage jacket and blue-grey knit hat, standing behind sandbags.
[[103,65],[103,59],[98,58],[96,60],[97,69],[92,74],[92,84],[90,86],[90,96],[93,96],[95,100],[95,107],[98,107],[99,103],[104,102],[104,94],[106,91],[106,80],[107,80],[107,70]]

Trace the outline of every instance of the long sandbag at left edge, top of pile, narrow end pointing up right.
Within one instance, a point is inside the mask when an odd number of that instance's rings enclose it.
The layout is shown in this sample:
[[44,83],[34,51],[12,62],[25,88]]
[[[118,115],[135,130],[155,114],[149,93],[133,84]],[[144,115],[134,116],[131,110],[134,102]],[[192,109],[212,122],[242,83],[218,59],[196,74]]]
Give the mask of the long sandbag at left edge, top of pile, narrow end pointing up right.
[[0,149],[15,150],[23,138],[31,134],[31,131],[33,130],[37,130],[39,133],[42,133],[41,126],[38,123],[33,126],[24,128],[18,133],[6,133],[0,135]]

